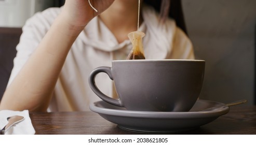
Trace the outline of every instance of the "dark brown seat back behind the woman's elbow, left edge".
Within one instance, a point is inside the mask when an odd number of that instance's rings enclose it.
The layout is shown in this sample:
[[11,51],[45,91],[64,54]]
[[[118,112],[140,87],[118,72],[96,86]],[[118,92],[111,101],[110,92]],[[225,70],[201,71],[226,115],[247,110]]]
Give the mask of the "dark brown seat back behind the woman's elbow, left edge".
[[21,28],[0,27],[0,100],[5,92],[16,56]]

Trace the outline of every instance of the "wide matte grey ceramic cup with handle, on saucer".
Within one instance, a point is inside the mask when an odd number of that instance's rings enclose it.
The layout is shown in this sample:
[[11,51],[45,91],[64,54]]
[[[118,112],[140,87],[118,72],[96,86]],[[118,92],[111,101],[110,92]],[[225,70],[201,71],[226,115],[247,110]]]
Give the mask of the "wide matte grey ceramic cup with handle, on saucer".
[[[103,94],[95,77],[105,72],[114,80],[118,99]],[[203,85],[203,60],[121,60],[112,67],[98,67],[89,85],[102,100],[136,111],[189,111]]]

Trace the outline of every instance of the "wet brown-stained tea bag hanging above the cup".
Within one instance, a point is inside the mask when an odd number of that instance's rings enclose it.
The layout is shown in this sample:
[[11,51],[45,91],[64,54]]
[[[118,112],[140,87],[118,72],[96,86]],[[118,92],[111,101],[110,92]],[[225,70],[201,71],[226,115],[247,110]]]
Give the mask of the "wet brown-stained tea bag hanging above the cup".
[[127,60],[145,60],[144,50],[142,45],[142,38],[145,33],[141,31],[134,31],[128,34],[132,44],[132,50],[127,57]]

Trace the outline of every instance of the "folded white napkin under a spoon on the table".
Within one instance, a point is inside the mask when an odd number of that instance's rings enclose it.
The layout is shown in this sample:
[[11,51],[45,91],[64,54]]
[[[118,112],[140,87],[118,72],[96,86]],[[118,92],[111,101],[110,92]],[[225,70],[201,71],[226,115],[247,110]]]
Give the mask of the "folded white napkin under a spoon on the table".
[[34,135],[35,129],[32,125],[29,117],[29,111],[12,111],[12,110],[1,110],[0,111],[0,129],[4,128],[8,124],[7,118],[13,115],[20,115],[24,117],[21,122],[12,125],[6,132],[5,135]]

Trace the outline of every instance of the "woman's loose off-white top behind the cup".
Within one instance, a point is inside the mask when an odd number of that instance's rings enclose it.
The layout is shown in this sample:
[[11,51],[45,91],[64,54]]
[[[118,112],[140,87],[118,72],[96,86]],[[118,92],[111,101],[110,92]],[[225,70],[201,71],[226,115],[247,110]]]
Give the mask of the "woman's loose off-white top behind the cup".
[[[61,8],[49,8],[26,22],[8,84],[29,59],[60,11]],[[146,34],[143,37],[146,59],[194,59],[190,39],[174,20],[159,24],[158,14],[148,6],[143,7],[142,17],[144,22],[139,30]],[[90,103],[100,100],[88,84],[90,72],[99,66],[111,66],[113,60],[125,60],[131,49],[129,40],[119,44],[99,17],[92,19],[66,57],[48,111],[89,110]],[[116,97],[113,81],[106,74],[99,74],[96,84],[104,94]]]

